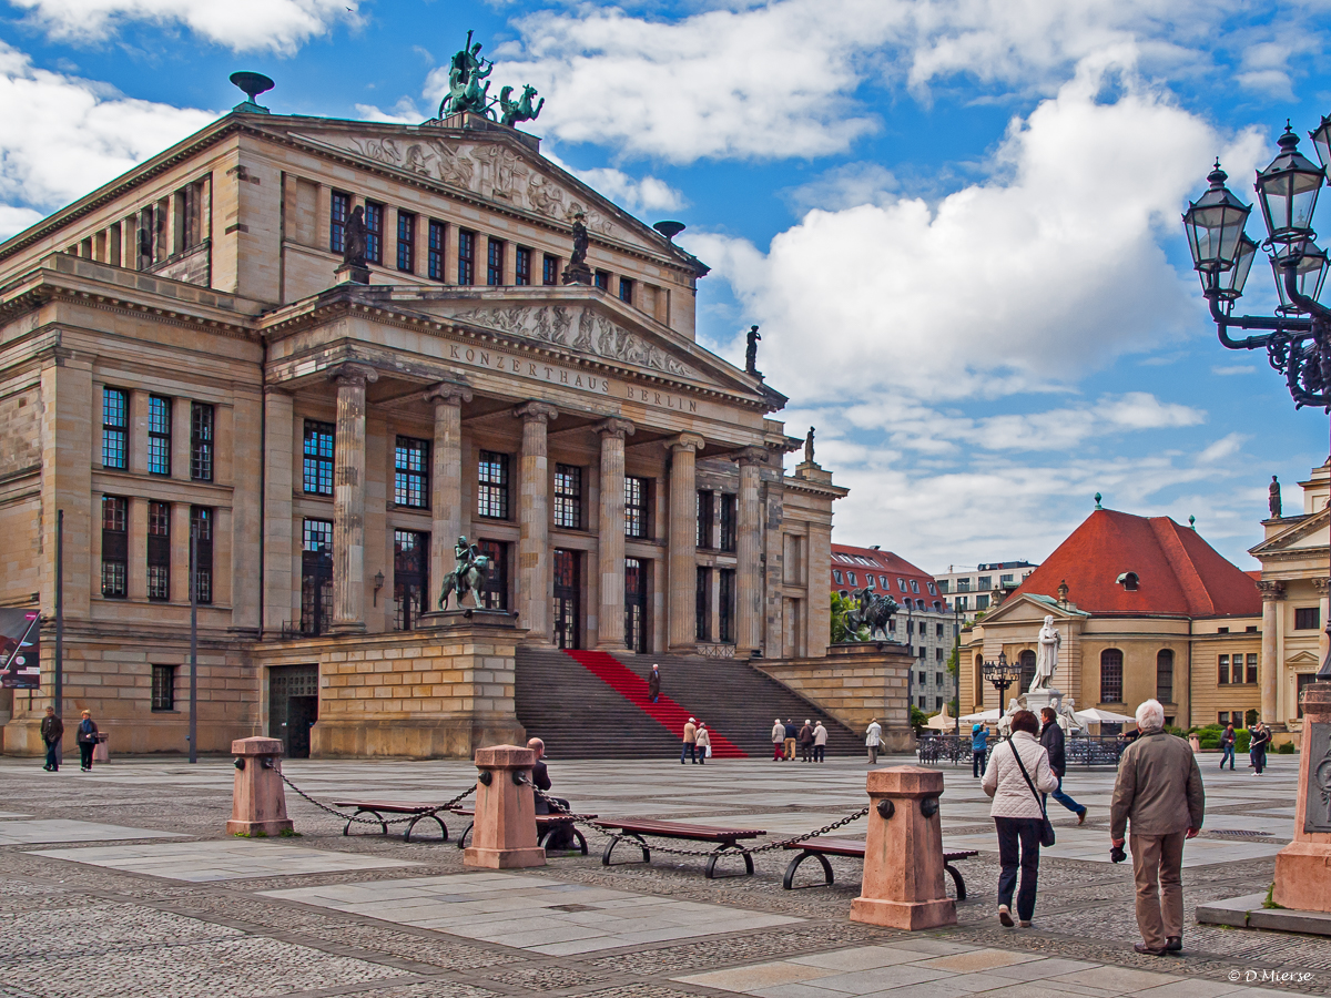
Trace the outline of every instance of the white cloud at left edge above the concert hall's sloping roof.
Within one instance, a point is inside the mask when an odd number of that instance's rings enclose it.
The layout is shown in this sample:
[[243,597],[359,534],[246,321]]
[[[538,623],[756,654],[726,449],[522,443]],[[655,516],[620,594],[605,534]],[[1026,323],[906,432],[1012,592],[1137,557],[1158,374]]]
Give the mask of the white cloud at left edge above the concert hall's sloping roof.
[[[125,97],[106,84],[37,69],[0,41],[0,200],[64,205],[178,142],[216,114]],[[17,214],[16,214],[17,213]]]

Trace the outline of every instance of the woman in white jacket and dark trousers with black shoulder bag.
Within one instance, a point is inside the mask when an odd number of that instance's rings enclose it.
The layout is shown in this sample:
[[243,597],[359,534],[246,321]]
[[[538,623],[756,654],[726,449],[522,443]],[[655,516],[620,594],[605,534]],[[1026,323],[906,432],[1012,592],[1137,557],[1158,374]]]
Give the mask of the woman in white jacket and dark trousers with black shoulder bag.
[[998,829],[998,921],[1012,927],[1012,893],[1017,886],[1018,846],[1021,853],[1021,889],[1017,892],[1017,918],[1029,929],[1036,914],[1036,882],[1040,877],[1040,833],[1044,830],[1042,800],[1026,784],[1017,765],[1017,754],[1026,776],[1040,793],[1053,793],[1058,777],[1049,768],[1049,753],[1038,741],[1040,721],[1030,711],[1012,717],[1012,737],[1005,739],[989,756],[980,785],[994,798],[989,814]]

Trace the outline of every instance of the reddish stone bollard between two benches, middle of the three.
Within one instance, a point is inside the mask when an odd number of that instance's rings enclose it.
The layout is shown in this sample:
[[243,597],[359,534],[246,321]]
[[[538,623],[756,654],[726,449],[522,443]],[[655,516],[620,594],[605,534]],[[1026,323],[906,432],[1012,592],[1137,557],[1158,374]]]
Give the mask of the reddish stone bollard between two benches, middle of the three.
[[535,752],[516,745],[476,749],[476,816],[465,866],[507,870],[546,865],[546,850],[536,845],[535,762]]

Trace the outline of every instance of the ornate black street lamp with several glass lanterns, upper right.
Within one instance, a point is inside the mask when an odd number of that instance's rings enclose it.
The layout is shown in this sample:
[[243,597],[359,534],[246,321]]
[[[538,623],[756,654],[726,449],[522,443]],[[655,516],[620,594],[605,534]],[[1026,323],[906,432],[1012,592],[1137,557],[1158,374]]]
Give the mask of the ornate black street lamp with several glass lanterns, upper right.
[[[1284,375],[1295,409],[1318,406],[1331,413],[1331,309],[1318,302],[1327,254],[1318,249],[1312,232],[1318,194],[1331,168],[1331,116],[1308,137],[1320,166],[1299,153],[1299,136],[1286,122],[1279,154],[1256,174],[1267,232],[1260,246],[1243,232],[1252,206],[1225,186],[1229,176],[1219,160],[1207,177],[1210,189],[1183,213],[1183,228],[1221,343],[1229,350],[1266,350],[1267,362]],[[1234,303],[1243,295],[1258,249],[1271,261],[1280,305],[1275,315],[1235,315]],[[1259,333],[1235,339],[1231,329]],[[1324,624],[1331,649],[1331,620]],[[1331,680],[1331,651],[1318,679]]]

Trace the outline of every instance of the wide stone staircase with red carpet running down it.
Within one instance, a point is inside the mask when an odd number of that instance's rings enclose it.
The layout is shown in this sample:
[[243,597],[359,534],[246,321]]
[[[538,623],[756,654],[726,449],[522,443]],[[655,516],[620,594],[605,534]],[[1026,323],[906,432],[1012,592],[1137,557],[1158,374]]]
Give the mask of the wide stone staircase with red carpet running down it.
[[[662,673],[658,704],[647,703],[652,663]],[[552,758],[677,757],[689,716],[707,721],[719,758],[769,758],[775,717],[821,717],[829,756],[864,752],[862,735],[748,663],[724,659],[519,648],[516,712]]]

